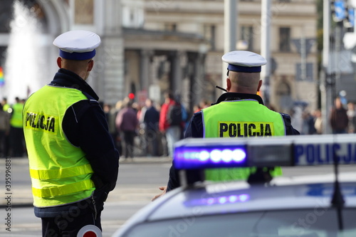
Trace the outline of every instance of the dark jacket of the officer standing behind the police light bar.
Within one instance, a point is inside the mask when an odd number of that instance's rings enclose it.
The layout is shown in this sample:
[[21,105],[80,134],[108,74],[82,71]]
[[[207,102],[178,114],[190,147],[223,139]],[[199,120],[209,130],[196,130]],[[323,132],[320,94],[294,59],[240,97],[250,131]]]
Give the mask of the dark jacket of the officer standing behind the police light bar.
[[[226,100],[257,100],[261,105],[263,105],[263,100],[259,95],[253,94],[243,94],[243,93],[224,93],[219,97],[216,103],[212,104],[212,106],[219,104],[221,101]],[[290,116],[287,114],[281,113],[283,117],[283,122],[286,127],[286,135],[300,135],[300,133],[295,130],[290,124]],[[187,127],[187,131],[184,134],[184,138],[187,137],[204,137],[204,127],[203,127],[203,118],[201,115],[201,111],[196,112],[192,119],[189,122]],[[194,177],[194,174],[190,173],[189,179],[198,180],[198,177]],[[179,175],[176,169],[172,166],[169,169],[169,181],[167,184],[167,191],[175,189],[179,186]]]

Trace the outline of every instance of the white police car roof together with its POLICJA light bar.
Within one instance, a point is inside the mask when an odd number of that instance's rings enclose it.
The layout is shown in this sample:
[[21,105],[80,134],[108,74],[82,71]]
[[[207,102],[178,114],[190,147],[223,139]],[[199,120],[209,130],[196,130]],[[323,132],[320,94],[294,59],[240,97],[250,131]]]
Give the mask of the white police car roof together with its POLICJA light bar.
[[[255,138],[183,139],[177,142],[174,167],[184,186],[167,192],[138,211],[117,231],[117,235],[141,223],[179,221],[184,217],[309,211],[333,206],[356,209],[356,172],[338,172],[340,165],[356,164],[355,136]],[[268,184],[248,184],[246,181],[189,184],[187,179],[184,180],[185,169],[292,166],[303,169],[325,164],[333,164],[334,174],[310,172],[314,175],[273,177]],[[342,198],[335,196],[339,194],[335,187],[340,187]]]

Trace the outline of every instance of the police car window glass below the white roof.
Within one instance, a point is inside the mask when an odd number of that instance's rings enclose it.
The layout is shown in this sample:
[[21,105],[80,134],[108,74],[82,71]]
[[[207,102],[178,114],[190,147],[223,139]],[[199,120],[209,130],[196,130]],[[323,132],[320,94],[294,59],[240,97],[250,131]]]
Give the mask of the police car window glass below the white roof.
[[131,228],[125,236],[355,237],[356,209],[343,209],[342,220],[343,231],[338,231],[337,211],[315,206],[305,210],[182,216],[142,223]]

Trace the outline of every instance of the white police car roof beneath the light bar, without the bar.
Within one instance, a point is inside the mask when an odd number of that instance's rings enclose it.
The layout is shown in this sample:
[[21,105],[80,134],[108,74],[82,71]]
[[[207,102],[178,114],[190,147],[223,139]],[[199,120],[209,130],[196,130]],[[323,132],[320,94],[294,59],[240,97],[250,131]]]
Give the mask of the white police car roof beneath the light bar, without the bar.
[[[339,174],[345,208],[356,208],[356,172]],[[335,175],[277,177],[269,185],[246,181],[179,187],[167,192],[130,218],[118,233],[138,223],[182,216],[219,215],[251,211],[329,208]]]

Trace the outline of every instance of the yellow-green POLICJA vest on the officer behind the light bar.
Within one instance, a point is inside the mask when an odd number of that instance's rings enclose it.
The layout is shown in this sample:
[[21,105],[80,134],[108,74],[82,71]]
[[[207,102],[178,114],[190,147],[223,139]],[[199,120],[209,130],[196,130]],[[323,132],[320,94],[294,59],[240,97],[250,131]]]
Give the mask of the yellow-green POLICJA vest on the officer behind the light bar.
[[[286,135],[283,117],[256,100],[224,101],[201,110],[204,137],[269,137]],[[246,180],[256,168],[206,169],[211,181]],[[282,174],[276,167],[273,176]]]

